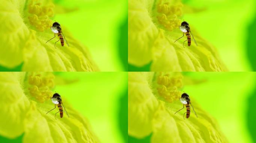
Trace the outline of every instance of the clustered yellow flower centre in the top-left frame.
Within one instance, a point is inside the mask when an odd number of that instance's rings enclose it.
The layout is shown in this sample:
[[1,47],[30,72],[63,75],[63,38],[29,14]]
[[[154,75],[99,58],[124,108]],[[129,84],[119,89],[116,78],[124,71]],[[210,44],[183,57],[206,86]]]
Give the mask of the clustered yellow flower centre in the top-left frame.
[[37,2],[37,0],[31,0],[28,4],[28,12],[31,14],[28,16],[30,24],[35,26],[39,31],[44,31],[52,25],[52,20],[49,17],[54,16],[54,4],[48,5]]

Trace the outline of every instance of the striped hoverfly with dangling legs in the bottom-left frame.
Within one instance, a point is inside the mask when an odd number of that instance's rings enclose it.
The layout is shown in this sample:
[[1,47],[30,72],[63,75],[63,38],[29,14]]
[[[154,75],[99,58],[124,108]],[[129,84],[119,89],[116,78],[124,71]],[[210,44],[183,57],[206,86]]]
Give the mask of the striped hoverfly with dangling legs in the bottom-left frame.
[[[59,108],[59,112],[60,112],[60,117],[62,118],[63,117],[63,109],[62,109],[62,106],[64,107],[64,105],[63,105],[63,102],[62,102],[62,100],[61,100],[61,97],[60,97],[60,94],[58,94],[58,93],[54,93],[54,95],[52,96],[52,103],[54,103],[54,105],[55,105],[55,107],[53,108],[53,109],[55,109],[56,108],[56,105],[58,105],[58,108]],[[61,106],[62,105],[62,106]],[[52,111],[53,109],[51,109],[50,111]],[[65,107],[64,107],[64,109],[65,109]],[[49,112],[50,112],[49,111]],[[49,113],[49,112],[47,112],[47,113]],[[66,112],[66,114],[67,114],[67,116],[69,117],[69,115],[68,115],[68,113],[67,113],[67,110],[65,109],[65,112]],[[47,114],[46,113],[46,114]],[[57,112],[58,113],[58,112]],[[56,119],[56,114],[57,113],[55,113],[55,119]]]

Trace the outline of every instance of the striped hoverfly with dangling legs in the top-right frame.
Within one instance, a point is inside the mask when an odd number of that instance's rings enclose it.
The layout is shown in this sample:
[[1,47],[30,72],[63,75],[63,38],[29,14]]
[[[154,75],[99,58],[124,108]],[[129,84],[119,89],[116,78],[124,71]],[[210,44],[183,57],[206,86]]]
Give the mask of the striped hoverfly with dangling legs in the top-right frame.
[[[186,21],[183,21],[183,22],[182,22],[182,24],[180,25],[180,31],[183,32],[183,36],[184,36],[184,33],[186,34],[186,36],[187,36],[187,40],[186,40],[186,41],[188,41],[188,46],[190,46],[190,45],[191,45],[191,37],[190,37],[190,34],[192,35],[192,33],[191,33],[190,28],[189,28],[188,22],[186,22]],[[189,34],[189,32],[190,32],[190,34]],[[183,36],[182,36],[182,37],[183,37]],[[180,37],[180,38],[182,38],[182,37]],[[196,46],[197,46],[197,43],[196,43],[195,38],[194,38],[193,35],[192,35],[192,37],[193,37],[193,40],[194,40],[194,42],[195,42],[195,44],[196,44]],[[179,38],[179,39],[180,39],[180,38]],[[177,40],[179,40],[179,39],[177,39]],[[177,41],[177,40],[176,40],[176,41]],[[174,42],[176,42],[176,41],[174,41]],[[184,47],[184,43],[185,43],[186,41],[183,42],[183,47]]]

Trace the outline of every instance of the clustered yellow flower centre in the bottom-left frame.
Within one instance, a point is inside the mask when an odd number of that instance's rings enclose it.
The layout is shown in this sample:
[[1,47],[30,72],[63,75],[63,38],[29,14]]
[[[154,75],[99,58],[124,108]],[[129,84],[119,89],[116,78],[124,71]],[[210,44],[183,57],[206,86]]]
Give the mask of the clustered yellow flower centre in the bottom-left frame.
[[30,95],[39,102],[45,102],[52,97],[54,88],[54,75],[52,73],[31,73],[28,76]]

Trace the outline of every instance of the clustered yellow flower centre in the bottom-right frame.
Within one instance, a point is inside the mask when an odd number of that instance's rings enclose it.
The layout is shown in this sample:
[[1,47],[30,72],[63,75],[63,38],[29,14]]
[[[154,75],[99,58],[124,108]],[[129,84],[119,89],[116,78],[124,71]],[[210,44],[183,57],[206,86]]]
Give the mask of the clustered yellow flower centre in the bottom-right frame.
[[160,74],[157,77],[157,90],[159,96],[163,97],[168,102],[173,102],[179,99],[181,92],[179,89],[183,87],[183,76],[180,73]]

